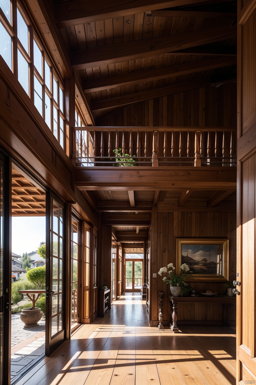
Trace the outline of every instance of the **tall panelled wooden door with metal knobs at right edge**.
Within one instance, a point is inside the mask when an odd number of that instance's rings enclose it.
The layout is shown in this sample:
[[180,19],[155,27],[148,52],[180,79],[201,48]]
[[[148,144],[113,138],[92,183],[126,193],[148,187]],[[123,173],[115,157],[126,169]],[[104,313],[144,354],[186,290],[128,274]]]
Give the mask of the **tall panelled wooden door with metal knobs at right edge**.
[[238,1],[237,385],[256,382],[255,8]]

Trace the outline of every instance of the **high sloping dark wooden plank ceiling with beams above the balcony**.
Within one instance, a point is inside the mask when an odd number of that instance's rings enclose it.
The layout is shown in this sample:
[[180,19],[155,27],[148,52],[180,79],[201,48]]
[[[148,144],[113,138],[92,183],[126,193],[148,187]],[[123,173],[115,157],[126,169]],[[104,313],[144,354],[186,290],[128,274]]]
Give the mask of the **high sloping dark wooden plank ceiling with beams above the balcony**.
[[235,1],[65,1],[55,21],[96,122],[138,101],[236,79]]

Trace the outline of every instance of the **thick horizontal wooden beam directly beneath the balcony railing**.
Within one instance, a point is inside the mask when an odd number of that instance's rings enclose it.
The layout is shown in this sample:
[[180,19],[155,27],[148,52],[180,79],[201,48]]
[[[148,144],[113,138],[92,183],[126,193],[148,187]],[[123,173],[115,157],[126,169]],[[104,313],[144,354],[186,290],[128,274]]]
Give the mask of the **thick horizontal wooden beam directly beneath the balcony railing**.
[[236,167],[75,167],[80,190],[236,189]]

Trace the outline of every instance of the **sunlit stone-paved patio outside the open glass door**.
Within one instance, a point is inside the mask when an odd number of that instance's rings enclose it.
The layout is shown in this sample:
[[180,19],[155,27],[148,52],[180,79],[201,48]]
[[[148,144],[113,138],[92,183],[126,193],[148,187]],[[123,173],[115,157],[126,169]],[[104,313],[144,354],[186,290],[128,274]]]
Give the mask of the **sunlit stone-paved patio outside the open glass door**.
[[[33,337],[45,332],[45,320],[40,320],[38,326],[24,328],[20,320],[20,313],[12,314],[12,337],[11,337],[11,380],[12,382],[25,372],[33,361],[45,355],[45,335],[33,340]],[[29,339],[27,346],[24,342]],[[20,349],[18,344],[20,344]],[[16,348],[15,348],[16,346]]]

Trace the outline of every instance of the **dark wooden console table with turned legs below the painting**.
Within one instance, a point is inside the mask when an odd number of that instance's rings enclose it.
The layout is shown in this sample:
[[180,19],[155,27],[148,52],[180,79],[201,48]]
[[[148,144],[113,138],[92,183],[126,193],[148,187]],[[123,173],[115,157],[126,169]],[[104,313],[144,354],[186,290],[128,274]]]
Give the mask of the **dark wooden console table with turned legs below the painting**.
[[[224,323],[223,326],[230,326],[228,323],[229,309],[228,306],[230,303],[236,303],[236,296],[207,296],[207,295],[198,295],[198,297],[174,297],[168,295],[170,300],[170,316],[172,318],[172,323],[170,323],[170,329],[172,331],[179,331],[177,324],[178,314],[177,308],[178,303],[223,303],[224,304]],[[172,306],[173,305],[173,306]],[[172,312],[173,308],[173,312]]]

